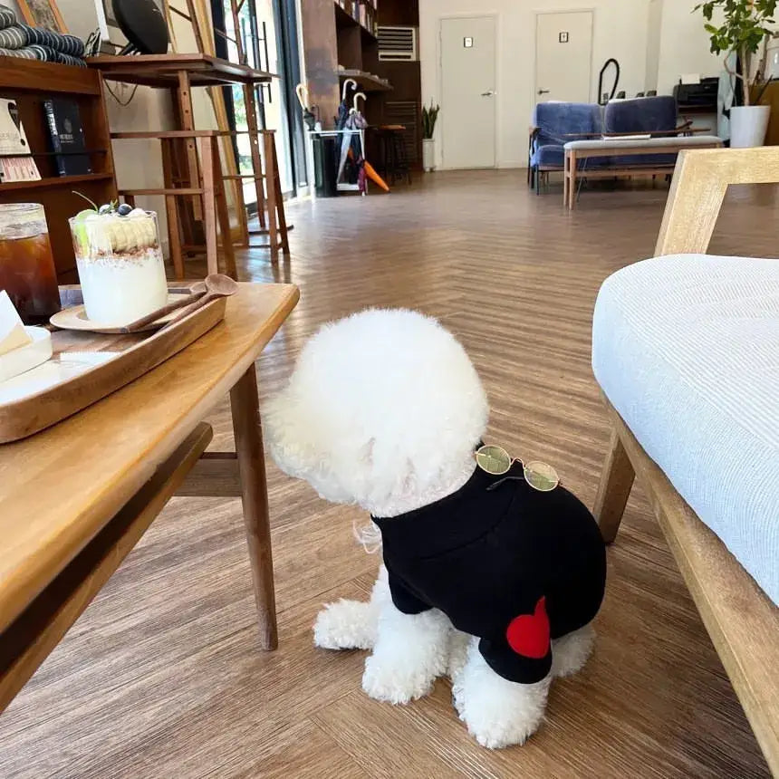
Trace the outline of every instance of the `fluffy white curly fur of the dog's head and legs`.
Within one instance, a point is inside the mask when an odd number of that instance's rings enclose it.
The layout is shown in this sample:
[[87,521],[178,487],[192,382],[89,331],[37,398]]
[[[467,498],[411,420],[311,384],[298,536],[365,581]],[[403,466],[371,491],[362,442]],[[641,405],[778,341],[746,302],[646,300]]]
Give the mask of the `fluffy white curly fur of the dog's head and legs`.
[[[325,325],[303,348],[289,386],[264,410],[276,463],[335,503],[372,515],[404,514],[463,486],[486,430],[486,394],[466,352],[438,322],[404,310],[371,309]],[[372,535],[361,534],[363,542]],[[524,744],[543,719],[553,676],[581,668],[593,632],[553,642],[553,669],[521,685],[495,674],[477,640],[437,610],[403,614],[381,566],[370,601],[337,601],[314,625],[324,649],[372,649],[362,687],[409,703],[439,676],[478,742]]]

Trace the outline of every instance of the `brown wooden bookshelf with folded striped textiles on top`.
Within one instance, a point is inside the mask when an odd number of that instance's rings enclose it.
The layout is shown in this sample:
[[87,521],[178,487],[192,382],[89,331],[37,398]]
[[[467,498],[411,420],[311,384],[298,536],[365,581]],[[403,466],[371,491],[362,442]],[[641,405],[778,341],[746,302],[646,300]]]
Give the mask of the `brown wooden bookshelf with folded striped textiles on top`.
[[[0,184],[0,203],[43,205],[60,284],[75,283],[78,276],[68,219],[87,204],[72,190],[77,189],[98,204],[117,197],[101,74],[71,65],[0,56],[0,97],[16,101],[30,150],[42,177],[40,181]],[[78,103],[92,173],[57,175],[43,111],[43,101],[53,97],[68,98]]]

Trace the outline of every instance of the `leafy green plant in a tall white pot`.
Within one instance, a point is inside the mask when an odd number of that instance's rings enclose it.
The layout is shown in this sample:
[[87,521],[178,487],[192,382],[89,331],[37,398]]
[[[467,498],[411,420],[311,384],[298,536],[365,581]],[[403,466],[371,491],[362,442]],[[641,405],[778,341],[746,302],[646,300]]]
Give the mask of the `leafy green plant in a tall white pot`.
[[[760,105],[763,92],[752,102],[752,90],[763,74],[753,69],[753,57],[764,43],[766,36],[773,34],[774,11],[779,0],[708,0],[696,5],[706,20],[707,33],[711,36],[711,51],[725,53],[725,68],[736,80],[734,90],[740,87],[742,105],[730,109],[730,145],[734,148],[762,146],[771,107]],[[712,24],[716,9],[722,9],[722,23]],[[727,60],[736,54],[741,63],[741,72],[731,71]]]

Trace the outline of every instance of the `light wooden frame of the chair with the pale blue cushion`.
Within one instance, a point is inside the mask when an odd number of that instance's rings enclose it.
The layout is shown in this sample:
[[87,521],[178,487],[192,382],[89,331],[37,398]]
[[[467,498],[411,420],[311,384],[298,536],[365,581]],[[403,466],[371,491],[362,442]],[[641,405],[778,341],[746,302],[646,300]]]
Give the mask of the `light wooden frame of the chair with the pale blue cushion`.
[[[727,187],[767,183],[779,183],[775,147],[681,152],[655,254],[705,254]],[[607,543],[616,538],[638,476],[765,759],[779,776],[779,610],[678,494],[608,399],[606,407],[613,432],[594,509],[603,537]]]

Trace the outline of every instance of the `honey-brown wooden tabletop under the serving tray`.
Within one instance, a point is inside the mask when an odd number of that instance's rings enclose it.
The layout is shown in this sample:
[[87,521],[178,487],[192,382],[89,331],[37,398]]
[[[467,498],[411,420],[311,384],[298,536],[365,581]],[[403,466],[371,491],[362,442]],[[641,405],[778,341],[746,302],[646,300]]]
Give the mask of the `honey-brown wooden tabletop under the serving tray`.
[[289,284],[241,284],[224,322],[159,368],[0,446],[0,631],[233,387],[298,297]]

